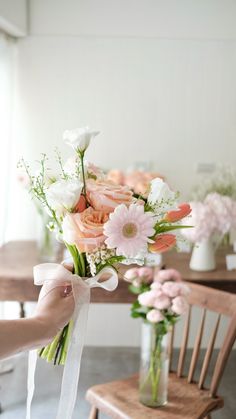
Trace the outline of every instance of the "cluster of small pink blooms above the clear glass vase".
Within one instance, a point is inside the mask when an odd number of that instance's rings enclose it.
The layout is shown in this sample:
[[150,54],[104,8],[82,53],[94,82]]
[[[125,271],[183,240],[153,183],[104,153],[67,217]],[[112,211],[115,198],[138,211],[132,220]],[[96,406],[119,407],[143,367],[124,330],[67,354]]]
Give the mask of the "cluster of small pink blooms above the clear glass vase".
[[[138,295],[131,309],[132,316],[142,317],[150,323],[165,321],[167,325],[173,324],[188,308],[189,287],[175,269],[160,270],[154,274],[152,268],[147,267],[143,280],[141,269],[144,268],[132,268],[125,274],[125,279],[131,282],[130,291]],[[146,281],[147,276],[149,282]]]

